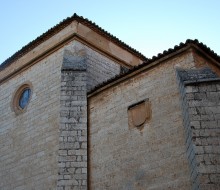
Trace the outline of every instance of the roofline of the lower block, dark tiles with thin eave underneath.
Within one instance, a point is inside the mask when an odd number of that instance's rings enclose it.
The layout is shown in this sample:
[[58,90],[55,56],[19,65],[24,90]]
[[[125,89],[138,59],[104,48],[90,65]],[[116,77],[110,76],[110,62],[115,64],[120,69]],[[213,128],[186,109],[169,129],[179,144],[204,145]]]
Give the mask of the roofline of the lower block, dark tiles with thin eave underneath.
[[114,78],[107,80],[98,86],[94,87],[87,93],[88,98],[120,83],[123,82],[137,73],[143,72],[153,66],[156,66],[158,63],[161,63],[170,57],[174,57],[179,53],[183,53],[190,48],[195,48],[196,50],[200,51],[203,55],[205,55],[208,59],[216,63],[216,65],[220,68],[220,56],[217,55],[213,50],[207,47],[205,44],[199,42],[197,39],[186,40],[185,43],[180,43],[176,45],[173,49],[165,50],[163,53],[159,53],[157,56],[153,56],[151,59],[148,59],[143,64],[134,67],[133,69],[129,70],[127,73],[116,75]]

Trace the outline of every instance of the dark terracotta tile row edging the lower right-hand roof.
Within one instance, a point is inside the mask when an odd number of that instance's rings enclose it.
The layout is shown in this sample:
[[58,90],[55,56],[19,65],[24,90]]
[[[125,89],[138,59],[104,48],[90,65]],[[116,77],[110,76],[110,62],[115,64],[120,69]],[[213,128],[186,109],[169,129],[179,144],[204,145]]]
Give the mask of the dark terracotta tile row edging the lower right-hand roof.
[[122,77],[125,77],[126,75],[132,73],[132,72],[135,72],[143,67],[145,67],[146,65],[149,65],[150,63],[154,62],[154,61],[157,61],[171,53],[174,53],[184,47],[187,47],[187,46],[197,46],[199,47],[200,49],[202,49],[203,51],[205,51],[207,54],[209,54],[211,57],[213,57],[215,60],[217,60],[219,63],[220,63],[220,56],[217,55],[213,50],[211,50],[209,47],[207,47],[205,44],[199,42],[197,39],[195,40],[191,40],[191,39],[188,39],[186,40],[185,43],[180,43],[179,45],[176,45],[174,46],[174,48],[170,48],[168,50],[165,50],[163,51],[163,53],[158,53],[157,56],[153,56],[151,59],[148,59],[147,61],[143,62],[141,65],[138,65],[138,66],[135,66],[133,67],[132,69],[128,70],[127,72],[123,73],[123,74],[119,74],[119,75],[116,75],[114,78],[111,78],[99,85],[97,85],[96,87],[94,87],[93,89],[91,89],[87,94],[92,94],[93,92],[95,92],[96,90],[106,86],[107,84],[110,84],[114,81],[117,81],[118,79],[121,79]]

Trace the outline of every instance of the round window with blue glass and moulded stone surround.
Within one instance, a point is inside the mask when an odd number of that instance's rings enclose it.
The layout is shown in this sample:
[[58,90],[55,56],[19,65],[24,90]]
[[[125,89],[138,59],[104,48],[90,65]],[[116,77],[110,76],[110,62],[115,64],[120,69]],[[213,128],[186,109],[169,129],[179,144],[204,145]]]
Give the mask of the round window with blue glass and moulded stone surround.
[[13,96],[12,108],[16,114],[23,113],[30,102],[32,95],[32,85],[31,83],[25,83],[21,85]]

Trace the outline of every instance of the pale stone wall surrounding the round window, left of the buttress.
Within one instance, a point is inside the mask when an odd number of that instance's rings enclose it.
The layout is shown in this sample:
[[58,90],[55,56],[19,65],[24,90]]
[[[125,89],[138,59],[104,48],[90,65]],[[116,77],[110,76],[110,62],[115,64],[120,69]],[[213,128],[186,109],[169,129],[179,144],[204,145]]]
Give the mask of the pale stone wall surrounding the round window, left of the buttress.
[[[0,85],[0,189],[56,189],[62,51]],[[15,90],[33,86],[26,112],[11,109]]]

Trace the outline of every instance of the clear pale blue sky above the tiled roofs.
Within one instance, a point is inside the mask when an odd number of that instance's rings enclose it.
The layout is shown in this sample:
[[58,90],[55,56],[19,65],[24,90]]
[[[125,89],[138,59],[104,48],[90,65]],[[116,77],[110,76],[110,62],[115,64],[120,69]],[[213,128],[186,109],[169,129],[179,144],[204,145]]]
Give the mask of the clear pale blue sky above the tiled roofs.
[[152,57],[186,39],[220,55],[220,0],[0,0],[0,63],[77,13]]

